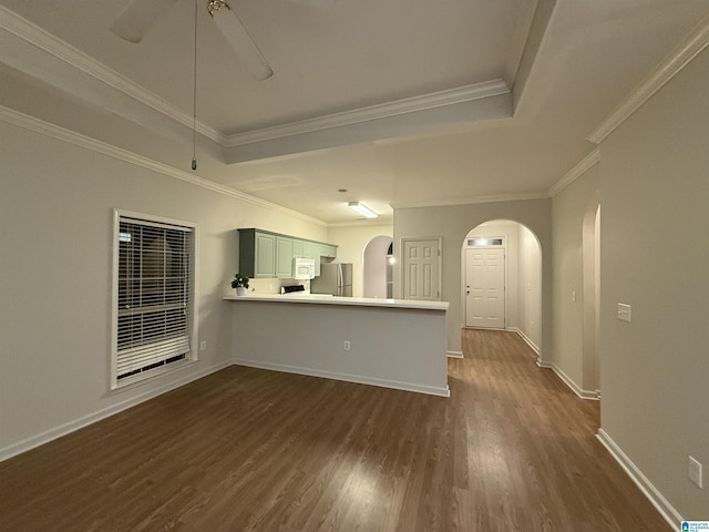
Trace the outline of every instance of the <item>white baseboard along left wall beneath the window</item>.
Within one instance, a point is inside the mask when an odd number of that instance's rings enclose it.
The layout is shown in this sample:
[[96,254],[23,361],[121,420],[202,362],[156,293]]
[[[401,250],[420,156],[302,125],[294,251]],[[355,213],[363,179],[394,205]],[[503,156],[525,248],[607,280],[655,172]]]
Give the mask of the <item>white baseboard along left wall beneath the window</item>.
[[220,369],[224,369],[228,366],[232,366],[232,361],[227,360],[226,362],[222,362],[217,366],[213,366],[210,368],[204,369],[202,371],[198,371],[196,374],[189,374],[186,376],[182,376],[178,377],[169,382],[166,382],[157,388],[151,389],[144,393],[141,393],[138,396],[134,396],[131,399],[126,399],[124,401],[117,402],[115,405],[112,405],[110,407],[103,408],[99,411],[95,411],[93,413],[90,413],[88,416],[84,416],[82,418],[79,418],[74,421],[70,421],[68,423],[64,424],[60,424],[59,427],[55,427],[53,429],[50,430],[45,430],[44,432],[41,432],[39,434],[32,436],[30,438],[25,438],[24,440],[18,441],[16,443],[11,443],[8,447],[4,447],[2,449],[0,449],[0,462],[3,460],[7,460],[9,458],[12,458],[17,454],[20,454],[22,452],[27,452],[30,449],[34,449],[35,447],[42,446],[44,443],[48,443],[52,440],[55,440],[58,438],[61,438],[62,436],[66,436],[71,432],[74,432],[79,429],[82,429],[84,427],[88,427],[92,423],[95,423],[96,421],[101,421],[102,419],[109,418],[115,413],[119,413],[123,410],[127,410],[131,407],[134,407],[136,405],[140,405],[141,402],[145,402],[150,399],[153,399],[157,396],[162,396],[163,393],[174,390],[175,388],[179,388],[181,386],[184,386],[188,382],[192,382],[194,380],[201,379],[203,377],[206,377],[209,374],[214,374],[215,371],[218,371]]

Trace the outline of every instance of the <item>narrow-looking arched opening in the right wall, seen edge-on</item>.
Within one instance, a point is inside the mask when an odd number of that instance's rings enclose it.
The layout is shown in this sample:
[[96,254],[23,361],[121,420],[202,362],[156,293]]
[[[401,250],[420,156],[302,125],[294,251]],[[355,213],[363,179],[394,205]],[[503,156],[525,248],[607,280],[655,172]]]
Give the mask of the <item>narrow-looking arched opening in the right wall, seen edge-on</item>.
[[598,308],[600,306],[600,203],[594,198],[584,215],[584,345],[583,388],[600,397],[600,357],[598,357]]

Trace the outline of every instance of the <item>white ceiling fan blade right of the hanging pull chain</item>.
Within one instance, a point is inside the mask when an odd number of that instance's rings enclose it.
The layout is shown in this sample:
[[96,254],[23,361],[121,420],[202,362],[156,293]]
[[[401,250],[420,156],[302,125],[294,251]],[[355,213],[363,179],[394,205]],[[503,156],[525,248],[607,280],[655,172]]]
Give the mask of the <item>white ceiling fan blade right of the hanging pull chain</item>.
[[246,70],[257,80],[266,80],[274,75],[266,58],[229,4],[224,0],[209,0],[207,9],[218,30],[244,62]]

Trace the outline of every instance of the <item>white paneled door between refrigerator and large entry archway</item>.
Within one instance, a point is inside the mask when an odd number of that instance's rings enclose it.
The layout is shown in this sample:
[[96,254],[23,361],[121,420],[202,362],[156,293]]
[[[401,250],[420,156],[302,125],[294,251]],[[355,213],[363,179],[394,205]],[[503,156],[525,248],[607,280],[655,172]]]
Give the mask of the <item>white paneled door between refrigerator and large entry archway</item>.
[[403,298],[438,301],[441,299],[441,241],[438,238],[402,241]]

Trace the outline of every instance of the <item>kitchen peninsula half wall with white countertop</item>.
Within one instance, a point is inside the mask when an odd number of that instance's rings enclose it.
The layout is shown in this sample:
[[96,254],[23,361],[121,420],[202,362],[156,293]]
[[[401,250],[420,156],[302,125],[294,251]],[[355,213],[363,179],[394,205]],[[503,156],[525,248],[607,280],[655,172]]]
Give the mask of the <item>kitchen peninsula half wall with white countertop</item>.
[[448,397],[448,301],[225,296],[234,364]]

